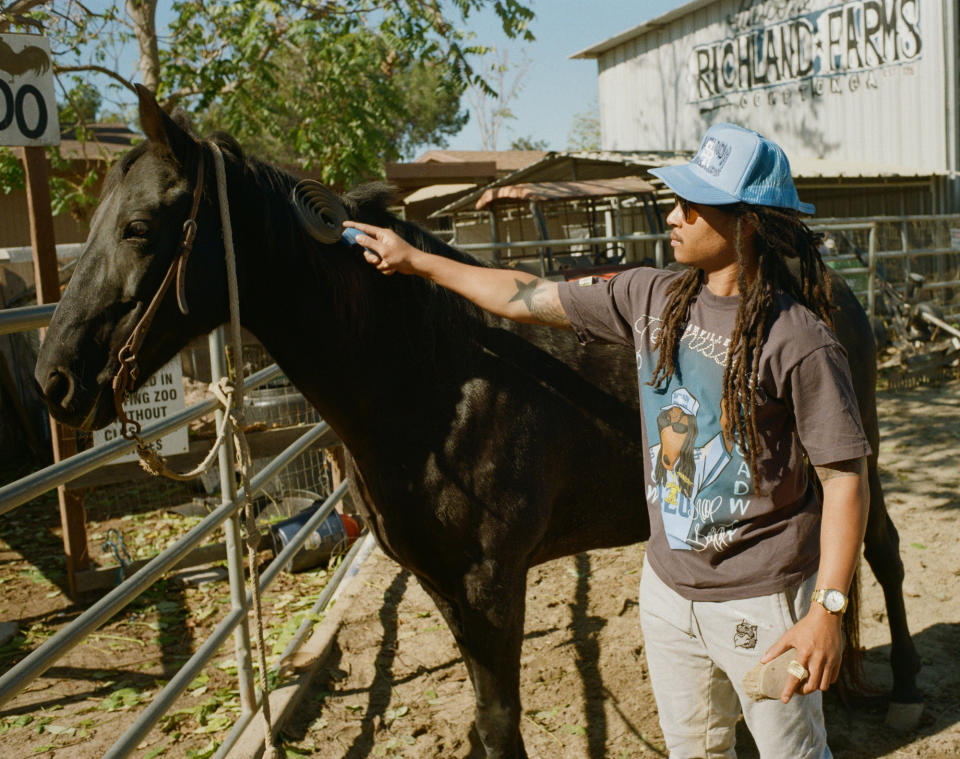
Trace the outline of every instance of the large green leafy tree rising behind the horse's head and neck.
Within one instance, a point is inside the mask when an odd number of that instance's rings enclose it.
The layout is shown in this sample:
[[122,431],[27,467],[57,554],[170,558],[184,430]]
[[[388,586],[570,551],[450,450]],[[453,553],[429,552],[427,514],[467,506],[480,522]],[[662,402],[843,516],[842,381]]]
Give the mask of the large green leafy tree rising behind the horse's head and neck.
[[[532,39],[528,5],[174,0],[161,37],[157,0],[114,0],[98,12],[76,0],[0,0],[0,31],[41,23],[59,76],[100,74],[131,91],[137,78],[201,127],[233,132],[265,157],[295,158],[347,185],[455,133],[466,119],[464,89],[493,92],[473,63],[487,48],[461,25],[489,7],[507,36]],[[114,64],[131,45],[136,77]],[[0,177],[9,173],[0,168]]]

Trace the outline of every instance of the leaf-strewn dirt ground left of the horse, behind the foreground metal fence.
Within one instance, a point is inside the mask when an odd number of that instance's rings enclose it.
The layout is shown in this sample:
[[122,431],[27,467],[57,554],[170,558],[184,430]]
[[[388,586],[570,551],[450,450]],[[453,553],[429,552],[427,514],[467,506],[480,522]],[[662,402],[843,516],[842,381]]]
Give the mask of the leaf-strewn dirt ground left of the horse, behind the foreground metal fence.
[[[158,481],[151,487],[166,486]],[[55,503],[31,504],[24,507],[27,512],[0,518],[0,622],[19,627],[13,639],[0,646],[0,672],[97,600],[91,594],[72,603],[64,593]],[[88,499],[88,505],[90,550],[106,565],[113,563],[111,557],[100,551],[111,535],[124,537],[131,558],[146,558],[200,520],[164,510],[137,511],[132,501],[107,505]],[[269,554],[261,557],[265,562]],[[209,575],[210,570],[218,568],[184,571],[155,583],[5,705],[0,710],[0,757],[103,756],[229,611],[225,581],[189,577],[193,572]],[[268,661],[284,649],[332,571],[317,567],[296,575],[281,572],[264,594],[264,610],[272,622],[266,636]],[[219,577],[226,576],[225,570],[219,572]],[[213,755],[241,713],[237,657],[229,640],[132,756]]]

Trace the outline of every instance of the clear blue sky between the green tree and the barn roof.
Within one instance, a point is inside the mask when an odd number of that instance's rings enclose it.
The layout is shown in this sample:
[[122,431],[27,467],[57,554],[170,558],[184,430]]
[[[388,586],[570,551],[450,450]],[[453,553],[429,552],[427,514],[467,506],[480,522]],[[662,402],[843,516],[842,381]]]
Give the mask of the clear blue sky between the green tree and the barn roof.
[[[518,137],[546,140],[553,150],[567,147],[567,138],[577,113],[595,109],[597,64],[593,60],[570,60],[573,53],[649,21],[686,0],[532,0],[537,14],[531,24],[535,42],[508,40],[492,11],[476,19],[470,28],[477,41],[510,51],[510,60],[526,52],[530,66],[521,80],[523,89],[510,104],[516,118],[505,122],[497,147],[505,149]],[[465,100],[469,108],[469,103]],[[473,119],[448,147],[476,150],[480,131]]]

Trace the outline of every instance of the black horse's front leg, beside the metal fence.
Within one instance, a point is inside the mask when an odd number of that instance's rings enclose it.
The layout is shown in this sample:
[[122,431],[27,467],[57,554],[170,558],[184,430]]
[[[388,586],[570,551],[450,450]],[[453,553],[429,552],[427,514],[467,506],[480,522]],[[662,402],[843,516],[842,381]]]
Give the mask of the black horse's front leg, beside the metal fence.
[[[485,565],[495,564],[493,561]],[[475,725],[488,759],[526,759],[520,737],[520,648],[526,570],[490,576],[490,567],[466,578],[465,596],[449,599],[427,582],[463,655],[476,696]]]

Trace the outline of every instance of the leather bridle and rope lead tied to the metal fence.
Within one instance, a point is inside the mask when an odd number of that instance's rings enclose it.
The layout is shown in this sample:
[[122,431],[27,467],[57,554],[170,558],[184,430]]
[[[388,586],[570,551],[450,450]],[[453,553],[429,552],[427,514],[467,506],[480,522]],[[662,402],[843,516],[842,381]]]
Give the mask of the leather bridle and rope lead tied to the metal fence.
[[[237,457],[237,471],[240,474],[241,484],[243,486],[243,497],[241,507],[244,512],[244,526],[246,527],[247,556],[250,564],[250,584],[251,596],[253,599],[253,611],[257,623],[257,653],[259,658],[259,678],[260,692],[262,694],[263,723],[264,723],[264,759],[275,759],[281,755],[281,750],[274,745],[272,719],[270,716],[270,688],[267,682],[267,661],[266,646],[263,635],[263,612],[260,603],[260,572],[257,563],[257,548],[260,545],[261,534],[257,527],[256,517],[253,513],[253,506],[250,501],[250,468],[252,466],[252,457],[250,447],[247,444],[246,436],[243,434],[243,343],[240,332],[240,296],[237,280],[236,254],[233,248],[233,225],[230,221],[230,202],[227,197],[227,177],[224,168],[223,153],[216,144],[208,143],[213,151],[213,163],[217,178],[217,195],[220,205],[220,223],[223,229],[223,247],[227,268],[227,289],[230,303],[230,351],[228,352],[228,373],[229,378],[223,378],[220,384],[211,387],[214,395],[224,407],[224,414],[221,425],[217,430],[217,439],[213,444],[206,458],[191,472],[180,474],[171,471],[163,456],[151,450],[140,437],[142,429],[140,423],[130,419],[123,410],[123,398],[127,391],[133,387],[139,374],[137,366],[137,354],[143,345],[144,338],[150,324],[153,322],[160,302],[166,295],[167,290],[174,279],[177,281],[177,306],[180,312],[186,316],[189,313],[185,297],[185,280],[187,270],[187,259],[193,250],[193,242],[197,236],[197,214],[200,210],[200,197],[203,194],[204,184],[204,157],[203,144],[198,143],[200,149],[200,160],[197,165],[196,186],[193,188],[193,204],[190,208],[190,215],[183,223],[183,236],[180,239],[180,246],[177,255],[167,269],[160,287],[154,294],[153,299],[147,306],[147,310],[137,322],[127,341],[117,353],[120,360],[120,367],[113,378],[113,399],[114,407],[117,411],[117,417],[121,423],[121,434],[127,440],[136,440],[138,443],[137,453],[140,455],[140,463],[148,472],[153,475],[163,475],[175,480],[187,480],[199,476],[206,471],[213,462],[213,457],[223,444],[226,435],[226,426],[228,422],[233,423],[233,440]],[[230,353],[233,353],[233,362],[229,361]],[[129,429],[128,429],[129,427]]]

